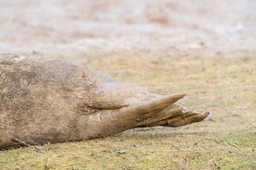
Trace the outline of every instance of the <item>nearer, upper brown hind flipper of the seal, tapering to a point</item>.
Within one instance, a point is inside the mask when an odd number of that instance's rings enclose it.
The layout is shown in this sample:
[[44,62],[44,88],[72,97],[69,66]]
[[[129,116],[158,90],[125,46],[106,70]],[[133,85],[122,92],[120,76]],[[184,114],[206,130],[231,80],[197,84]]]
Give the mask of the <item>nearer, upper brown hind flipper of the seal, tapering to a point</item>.
[[100,110],[93,115],[79,117],[77,127],[80,139],[96,139],[137,127],[137,123],[148,119],[167,106],[182,99],[185,94],[166,95],[137,105],[115,110]]

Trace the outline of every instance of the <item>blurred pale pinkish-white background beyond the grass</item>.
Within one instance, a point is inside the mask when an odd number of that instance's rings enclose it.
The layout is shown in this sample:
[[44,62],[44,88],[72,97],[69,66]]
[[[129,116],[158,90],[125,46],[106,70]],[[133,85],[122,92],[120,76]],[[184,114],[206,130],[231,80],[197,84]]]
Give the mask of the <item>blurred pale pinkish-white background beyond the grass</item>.
[[0,52],[238,53],[256,49],[255,8],[254,0],[1,0]]

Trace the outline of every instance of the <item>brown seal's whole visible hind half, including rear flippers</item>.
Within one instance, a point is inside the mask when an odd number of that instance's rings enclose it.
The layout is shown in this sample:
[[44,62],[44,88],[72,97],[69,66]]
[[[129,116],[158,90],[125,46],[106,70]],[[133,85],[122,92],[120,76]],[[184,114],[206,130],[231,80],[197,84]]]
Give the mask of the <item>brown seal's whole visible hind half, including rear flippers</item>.
[[35,54],[0,54],[0,150],[96,139],[134,127],[180,127],[184,94],[149,93],[98,71]]

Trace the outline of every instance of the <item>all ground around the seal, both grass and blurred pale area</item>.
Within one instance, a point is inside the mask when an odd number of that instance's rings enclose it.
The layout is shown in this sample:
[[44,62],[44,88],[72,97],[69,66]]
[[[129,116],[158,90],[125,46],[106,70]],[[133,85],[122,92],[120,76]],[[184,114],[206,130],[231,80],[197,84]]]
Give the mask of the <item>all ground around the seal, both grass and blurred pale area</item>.
[[183,105],[211,116],[3,150],[1,170],[256,169],[255,1],[155,2],[0,1],[0,52],[56,55],[153,92],[188,94]]

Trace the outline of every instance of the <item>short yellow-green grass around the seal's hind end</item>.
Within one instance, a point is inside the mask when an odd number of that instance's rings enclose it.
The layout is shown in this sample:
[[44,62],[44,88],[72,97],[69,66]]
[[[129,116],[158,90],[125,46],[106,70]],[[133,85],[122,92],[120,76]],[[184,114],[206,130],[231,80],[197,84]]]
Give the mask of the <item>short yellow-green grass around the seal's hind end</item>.
[[80,64],[118,81],[160,94],[189,94],[183,105],[212,116],[186,127],[135,129],[106,139],[4,150],[0,169],[256,169],[256,53],[243,54],[77,54],[73,59]]

